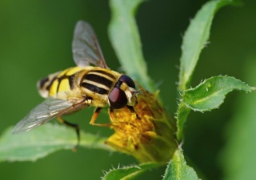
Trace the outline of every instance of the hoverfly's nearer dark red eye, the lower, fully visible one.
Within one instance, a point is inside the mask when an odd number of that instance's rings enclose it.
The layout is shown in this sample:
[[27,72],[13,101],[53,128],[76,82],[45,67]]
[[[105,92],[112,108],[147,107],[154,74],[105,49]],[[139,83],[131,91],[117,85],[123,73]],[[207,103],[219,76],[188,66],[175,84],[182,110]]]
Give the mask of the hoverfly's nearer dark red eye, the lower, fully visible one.
[[113,88],[109,95],[110,107],[114,109],[120,109],[126,106],[128,103],[126,93],[120,88]]

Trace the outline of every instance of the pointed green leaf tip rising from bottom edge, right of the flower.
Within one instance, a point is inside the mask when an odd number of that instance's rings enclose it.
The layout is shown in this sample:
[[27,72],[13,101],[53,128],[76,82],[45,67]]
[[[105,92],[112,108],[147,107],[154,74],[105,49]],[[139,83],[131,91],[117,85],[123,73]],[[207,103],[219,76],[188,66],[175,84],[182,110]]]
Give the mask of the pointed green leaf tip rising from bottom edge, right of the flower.
[[194,169],[186,165],[181,150],[174,153],[173,159],[168,163],[163,180],[198,180]]

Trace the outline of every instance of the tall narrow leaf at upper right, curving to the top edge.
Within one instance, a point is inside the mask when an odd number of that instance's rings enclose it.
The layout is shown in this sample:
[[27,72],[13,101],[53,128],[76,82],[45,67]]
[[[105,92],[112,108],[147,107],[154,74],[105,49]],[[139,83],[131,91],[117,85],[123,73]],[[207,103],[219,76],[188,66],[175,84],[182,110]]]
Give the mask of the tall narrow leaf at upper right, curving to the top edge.
[[222,7],[234,1],[210,1],[202,6],[201,10],[191,20],[182,41],[182,57],[179,73],[179,89],[186,90],[190,87],[194,68],[202,49],[206,46],[210,36],[210,26],[214,14]]

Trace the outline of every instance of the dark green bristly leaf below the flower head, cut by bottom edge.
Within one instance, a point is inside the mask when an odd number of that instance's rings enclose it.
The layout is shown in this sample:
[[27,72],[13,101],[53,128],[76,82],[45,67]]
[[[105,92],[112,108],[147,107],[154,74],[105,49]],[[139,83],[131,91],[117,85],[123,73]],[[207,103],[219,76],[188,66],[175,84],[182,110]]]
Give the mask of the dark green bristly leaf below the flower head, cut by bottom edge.
[[113,169],[106,172],[105,176],[102,178],[103,180],[115,180],[115,179],[122,179],[122,180],[129,180],[135,179],[138,174],[141,174],[145,170],[150,170],[159,166],[156,163],[146,163],[141,164],[138,166],[126,166],[118,169]]

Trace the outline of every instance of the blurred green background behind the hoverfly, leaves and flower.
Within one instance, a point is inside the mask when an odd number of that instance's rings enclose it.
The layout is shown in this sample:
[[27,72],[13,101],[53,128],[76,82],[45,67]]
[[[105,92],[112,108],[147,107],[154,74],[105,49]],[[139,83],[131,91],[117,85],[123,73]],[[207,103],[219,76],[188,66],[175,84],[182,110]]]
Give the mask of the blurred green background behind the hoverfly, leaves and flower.
[[[205,2],[150,0],[138,9],[138,28],[149,74],[158,84],[166,110],[172,116],[178,101],[176,83],[182,34]],[[214,18],[210,45],[203,50],[192,86],[220,74],[235,76],[256,85],[256,74],[253,73],[256,68],[256,1],[243,2],[239,7],[225,7]],[[107,1],[0,2],[0,132],[13,126],[42,101],[35,86],[37,80],[74,66],[71,41],[75,22],[79,19],[93,25],[107,64],[117,70],[120,65],[107,35],[110,22]],[[187,162],[204,178],[256,179],[253,176],[256,176],[256,135],[250,134],[250,131],[256,130],[253,108],[256,104],[253,101],[256,102],[254,95],[234,92],[227,96],[220,109],[190,114],[183,149]],[[92,111],[93,108],[90,108],[66,119],[79,123],[85,131],[110,135],[112,131],[109,129],[88,124]],[[240,113],[238,118],[238,112],[246,111],[248,113],[242,116]],[[107,119],[106,113],[100,118]],[[250,152],[245,149],[250,149]],[[102,170],[135,163],[136,160],[127,155],[80,148],[77,153],[58,151],[37,162],[2,162],[0,178],[99,179],[103,175]],[[249,168],[242,171],[239,165],[243,169],[250,166],[251,171],[248,171]],[[151,170],[142,179],[162,179],[164,169]],[[240,171],[247,176],[235,175]],[[230,178],[230,174],[234,177]]]

